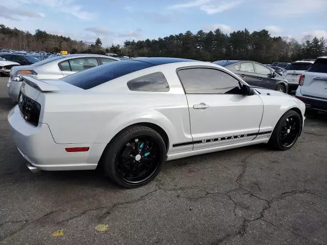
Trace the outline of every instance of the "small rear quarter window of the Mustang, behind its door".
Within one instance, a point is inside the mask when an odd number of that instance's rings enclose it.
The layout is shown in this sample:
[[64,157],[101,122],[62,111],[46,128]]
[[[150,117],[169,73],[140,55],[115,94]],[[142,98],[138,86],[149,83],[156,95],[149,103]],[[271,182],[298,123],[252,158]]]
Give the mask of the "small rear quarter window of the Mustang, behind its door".
[[161,72],[155,72],[127,82],[127,87],[132,91],[167,92],[168,82]]

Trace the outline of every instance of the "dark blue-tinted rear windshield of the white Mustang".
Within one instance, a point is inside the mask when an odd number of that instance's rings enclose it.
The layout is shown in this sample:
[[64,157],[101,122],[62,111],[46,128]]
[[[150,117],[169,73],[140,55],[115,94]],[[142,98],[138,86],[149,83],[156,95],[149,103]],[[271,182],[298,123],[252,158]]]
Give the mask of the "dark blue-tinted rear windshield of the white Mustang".
[[89,89],[151,66],[154,65],[143,61],[120,60],[80,71],[61,80],[79,88]]

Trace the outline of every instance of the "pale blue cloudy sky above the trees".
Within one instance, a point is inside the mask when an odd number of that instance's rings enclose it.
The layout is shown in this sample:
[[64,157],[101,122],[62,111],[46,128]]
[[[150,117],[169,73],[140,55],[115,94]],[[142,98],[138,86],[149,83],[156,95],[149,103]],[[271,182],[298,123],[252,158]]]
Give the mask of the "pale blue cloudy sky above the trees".
[[217,28],[327,38],[327,0],[0,0],[0,10],[10,28],[104,45]]

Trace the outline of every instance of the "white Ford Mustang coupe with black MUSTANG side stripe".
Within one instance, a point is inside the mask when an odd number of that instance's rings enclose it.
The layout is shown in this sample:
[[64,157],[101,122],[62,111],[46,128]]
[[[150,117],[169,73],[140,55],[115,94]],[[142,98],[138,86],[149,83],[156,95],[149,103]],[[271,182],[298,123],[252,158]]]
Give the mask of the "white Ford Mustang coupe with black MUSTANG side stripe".
[[124,187],[148,183],[166,160],[258,143],[288,150],[305,120],[295,97],[208,62],[137,58],[24,79],[8,120],[29,168],[101,165]]

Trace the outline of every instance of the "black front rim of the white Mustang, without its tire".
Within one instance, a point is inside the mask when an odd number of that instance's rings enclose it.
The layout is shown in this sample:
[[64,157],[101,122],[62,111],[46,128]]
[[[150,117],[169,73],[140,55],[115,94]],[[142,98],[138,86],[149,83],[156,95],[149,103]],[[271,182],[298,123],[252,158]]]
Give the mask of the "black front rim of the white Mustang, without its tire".
[[294,115],[284,120],[281,130],[279,131],[279,142],[285,148],[289,148],[296,141],[300,129],[301,121]]

